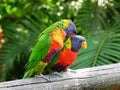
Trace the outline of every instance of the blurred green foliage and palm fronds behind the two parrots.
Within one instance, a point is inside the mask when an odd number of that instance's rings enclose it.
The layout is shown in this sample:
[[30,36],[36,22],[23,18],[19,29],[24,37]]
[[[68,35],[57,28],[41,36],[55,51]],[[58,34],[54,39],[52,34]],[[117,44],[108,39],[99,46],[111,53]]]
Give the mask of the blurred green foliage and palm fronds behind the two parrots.
[[70,68],[120,62],[120,0],[0,0],[0,81],[23,76],[37,36],[61,19],[88,43]]

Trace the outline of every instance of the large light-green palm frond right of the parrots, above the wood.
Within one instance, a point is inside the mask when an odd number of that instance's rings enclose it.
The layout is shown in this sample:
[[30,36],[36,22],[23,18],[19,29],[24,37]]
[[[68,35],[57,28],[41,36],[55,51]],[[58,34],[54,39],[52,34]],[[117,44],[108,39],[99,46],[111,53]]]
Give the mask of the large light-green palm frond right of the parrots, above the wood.
[[120,62],[120,30],[100,31],[87,39],[88,48],[81,49],[73,69]]

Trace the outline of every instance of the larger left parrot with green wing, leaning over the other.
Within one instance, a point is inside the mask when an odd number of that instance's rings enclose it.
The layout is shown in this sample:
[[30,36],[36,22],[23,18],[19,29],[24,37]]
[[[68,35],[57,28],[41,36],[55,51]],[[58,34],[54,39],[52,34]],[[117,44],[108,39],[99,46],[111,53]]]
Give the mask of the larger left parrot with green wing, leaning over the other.
[[60,20],[46,28],[37,38],[31,51],[29,60],[25,65],[24,78],[34,75],[42,75],[45,67],[52,58],[63,48],[67,36],[74,36],[77,32],[75,24],[71,20]]

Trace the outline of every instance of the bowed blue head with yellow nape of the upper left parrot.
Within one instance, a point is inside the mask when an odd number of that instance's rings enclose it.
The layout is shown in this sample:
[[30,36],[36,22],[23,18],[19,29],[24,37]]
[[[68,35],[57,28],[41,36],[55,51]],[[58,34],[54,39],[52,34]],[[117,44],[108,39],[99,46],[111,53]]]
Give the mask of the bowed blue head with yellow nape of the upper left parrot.
[[66,35],[74,36],[77,32],[75,24],[70,20],[63,20]]

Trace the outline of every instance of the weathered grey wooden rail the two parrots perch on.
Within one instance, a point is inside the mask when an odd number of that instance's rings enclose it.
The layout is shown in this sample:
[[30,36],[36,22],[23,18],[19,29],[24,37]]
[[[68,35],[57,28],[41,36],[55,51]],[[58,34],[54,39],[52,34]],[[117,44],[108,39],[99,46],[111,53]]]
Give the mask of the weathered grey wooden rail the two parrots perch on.
[[[76,72],[76,73],[75,73]],[[0,90],[120,90],[120,63],[0,83]]]

